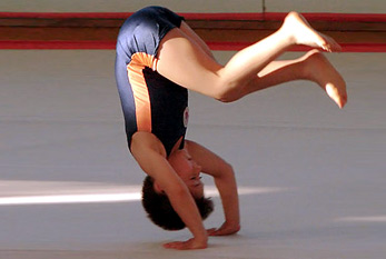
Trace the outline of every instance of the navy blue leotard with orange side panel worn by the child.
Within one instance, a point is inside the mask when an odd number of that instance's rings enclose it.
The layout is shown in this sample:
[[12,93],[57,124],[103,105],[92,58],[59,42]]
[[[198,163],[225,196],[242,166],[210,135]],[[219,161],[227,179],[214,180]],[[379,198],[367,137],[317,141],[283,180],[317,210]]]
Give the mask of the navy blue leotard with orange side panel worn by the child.
[[184,145],[188,91],[156,71],[161,39],[182,20],[166,8],[148,7],[130,16],[119,31],[116,80],[129,147],[137,131],[154,133],[168,156],[181,137]]

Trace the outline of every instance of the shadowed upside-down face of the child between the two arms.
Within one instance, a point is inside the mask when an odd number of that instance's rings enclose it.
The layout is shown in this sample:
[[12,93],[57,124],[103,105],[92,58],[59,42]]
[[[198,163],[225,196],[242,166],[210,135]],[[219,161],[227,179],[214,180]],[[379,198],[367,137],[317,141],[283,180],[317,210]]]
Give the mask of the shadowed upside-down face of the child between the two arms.
[[170,166],[176,170],[195,198],[204,197],[201,167],[191,158],[187,150],[177,150],[169,157]]

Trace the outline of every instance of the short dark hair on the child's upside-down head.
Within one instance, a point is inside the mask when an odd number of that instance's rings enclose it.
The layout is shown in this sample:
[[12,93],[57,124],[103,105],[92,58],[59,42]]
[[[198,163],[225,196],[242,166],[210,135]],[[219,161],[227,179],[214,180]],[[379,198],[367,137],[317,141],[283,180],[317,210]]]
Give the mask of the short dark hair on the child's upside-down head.
[[[214,202],[209,198],[196,199],[197,208],[202,220],[214,211]],[[168,197],[165,193],[156,192],[154,179],[147,176],[142,186],[142,206],[148,213],[148,218],[158,227],[165,230],[180,230],[186,226],[177,212],[171,207]]]

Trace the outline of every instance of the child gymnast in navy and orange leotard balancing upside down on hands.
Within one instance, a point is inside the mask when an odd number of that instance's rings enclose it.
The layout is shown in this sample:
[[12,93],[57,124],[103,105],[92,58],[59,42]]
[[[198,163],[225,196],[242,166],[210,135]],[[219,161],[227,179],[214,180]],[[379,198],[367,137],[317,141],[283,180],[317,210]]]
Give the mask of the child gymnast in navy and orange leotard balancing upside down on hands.
[[[296,44],[313,50],[296,60],[276,60]],[[339,51],[340,46],[296,12],[288,13],[276,32],[237,52],[225,66],[182,17],[166,8],[147,7],[125,21],[117,41],[116,81],[129,150],[147,173],[142,205],[159,227],[187,227],[192,235],[186,241],[165,243],[165,248],[204,249],[208,236],[240,229],[231,166],[185,139],[188,90],[231,102],[284,82],[309,80],[343,108],[346,83],[323,50]],[[220,193],[225,221],[217,229],[206,230],[202,225],[212,201],[204,196],[200,173],[211,176]]]

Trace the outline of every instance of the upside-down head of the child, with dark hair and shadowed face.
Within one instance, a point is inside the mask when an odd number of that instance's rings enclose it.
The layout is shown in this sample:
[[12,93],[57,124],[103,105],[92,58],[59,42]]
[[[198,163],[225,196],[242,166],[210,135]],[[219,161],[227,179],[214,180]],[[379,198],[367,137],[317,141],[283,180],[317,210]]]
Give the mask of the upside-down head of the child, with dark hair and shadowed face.
[[[187,150],[174,152],[168,161],[188,187],[202,220],[214,210],[214,202],[204,197],[204,185],[200,180],[201,167],[196,163]],[[146,177],[142,187],[142,206],[150,220],[166,230],[179,230],[185,228],[185,223],[172,209],[168,197],[158,188],[155,181]]]

